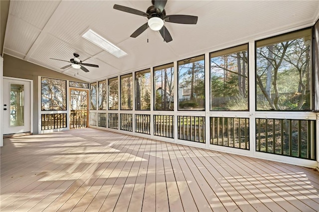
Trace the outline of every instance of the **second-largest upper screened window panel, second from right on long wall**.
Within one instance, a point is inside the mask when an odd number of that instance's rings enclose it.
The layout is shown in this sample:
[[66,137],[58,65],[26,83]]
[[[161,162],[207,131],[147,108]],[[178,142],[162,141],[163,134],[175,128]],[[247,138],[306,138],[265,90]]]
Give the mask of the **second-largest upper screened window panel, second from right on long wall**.
[[210,53],[210,109],[248,110],[248,44]]

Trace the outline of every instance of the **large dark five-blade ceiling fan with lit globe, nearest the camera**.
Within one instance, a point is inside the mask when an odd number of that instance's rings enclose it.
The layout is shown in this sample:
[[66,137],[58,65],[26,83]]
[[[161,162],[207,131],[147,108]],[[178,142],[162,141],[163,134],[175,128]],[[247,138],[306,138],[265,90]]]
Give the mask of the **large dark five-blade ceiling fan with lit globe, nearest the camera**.
[[118,4],[114,4],[113,8],[124,12],[145,16],[149,19],[147,23],[143,24],[140,28],[133,32],[131,37],[135,38],[139,36],[148,28],[148,26],[150,26],[151,29],[160,31],[160,35],[164,38],[164,41],[168,43],[173,39],[171,38],[167,28],[164,26],[164,21],[171,23],[196,24],[198,17],[193,15],[166,15],[164,9],[166,2],[167,0],[152,0],[153,5],[151,5],[146,12]]

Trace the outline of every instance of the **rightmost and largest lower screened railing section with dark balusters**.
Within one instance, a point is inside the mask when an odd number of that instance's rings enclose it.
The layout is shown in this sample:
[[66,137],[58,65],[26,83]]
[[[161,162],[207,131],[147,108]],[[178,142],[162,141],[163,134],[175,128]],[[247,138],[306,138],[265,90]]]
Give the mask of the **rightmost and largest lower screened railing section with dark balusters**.
[[316,159],[316,120],[256,118],[256,151]]

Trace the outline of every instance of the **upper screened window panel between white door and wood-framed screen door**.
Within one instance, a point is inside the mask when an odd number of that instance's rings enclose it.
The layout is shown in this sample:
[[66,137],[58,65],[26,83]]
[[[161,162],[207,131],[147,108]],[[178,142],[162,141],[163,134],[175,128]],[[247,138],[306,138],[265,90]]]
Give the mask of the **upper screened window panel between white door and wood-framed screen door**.
[[66,110],[66,81],[41,78],[41,110]]

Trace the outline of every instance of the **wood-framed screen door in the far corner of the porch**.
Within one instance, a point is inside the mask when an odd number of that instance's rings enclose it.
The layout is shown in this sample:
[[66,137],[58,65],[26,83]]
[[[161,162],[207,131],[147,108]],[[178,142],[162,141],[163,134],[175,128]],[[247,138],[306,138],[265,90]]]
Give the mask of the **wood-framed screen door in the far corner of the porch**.
[[87,90],[70,89],[70,129],[87,127],[88,96]]

